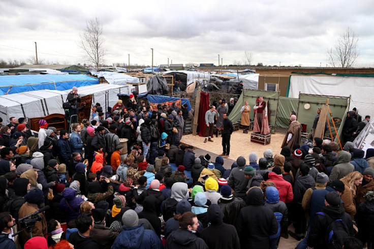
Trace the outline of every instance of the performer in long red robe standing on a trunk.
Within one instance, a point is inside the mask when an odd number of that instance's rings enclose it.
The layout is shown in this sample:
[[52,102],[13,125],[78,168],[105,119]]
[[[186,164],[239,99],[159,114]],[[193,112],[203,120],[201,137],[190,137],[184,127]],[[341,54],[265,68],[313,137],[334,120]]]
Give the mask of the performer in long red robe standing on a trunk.
[[263,135],[270,133],[269,121],[267,119],[268,106],[266,102],[264,101],[264,97],[262,96],[259,97],[259,101],[256,102],[253,109],[255,110],[255,121],[253,124],[253,132],[261,133]]

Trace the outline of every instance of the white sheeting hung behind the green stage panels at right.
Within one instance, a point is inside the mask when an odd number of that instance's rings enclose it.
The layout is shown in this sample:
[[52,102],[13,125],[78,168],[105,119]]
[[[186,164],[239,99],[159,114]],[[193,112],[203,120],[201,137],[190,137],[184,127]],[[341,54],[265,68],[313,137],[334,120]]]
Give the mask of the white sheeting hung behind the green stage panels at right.
[[351,96],[350,110],[356,107],[361,116],[374,112],[374,77],[334,75],[291,75],[288,97],[298,98],[302,94]]

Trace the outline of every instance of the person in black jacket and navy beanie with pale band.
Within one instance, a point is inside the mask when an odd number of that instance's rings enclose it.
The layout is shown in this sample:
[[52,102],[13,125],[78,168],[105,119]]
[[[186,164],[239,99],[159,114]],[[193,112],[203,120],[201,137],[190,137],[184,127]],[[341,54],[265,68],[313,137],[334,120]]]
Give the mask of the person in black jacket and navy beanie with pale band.
[[230,225],[235,225],[240,209],[246,206],[243,199],[234,197],[229,185],[222,186],[221,197],[217,203],[224,213],[224,223]]

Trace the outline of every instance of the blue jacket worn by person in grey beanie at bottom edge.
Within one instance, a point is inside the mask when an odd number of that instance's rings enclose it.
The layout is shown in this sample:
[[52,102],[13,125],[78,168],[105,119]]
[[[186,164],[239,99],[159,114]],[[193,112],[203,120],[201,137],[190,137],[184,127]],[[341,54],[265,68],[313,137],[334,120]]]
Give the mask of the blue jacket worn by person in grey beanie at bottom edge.
[[139,225],[136,227],[122,227],[123,231],[118,234],[113,242],[112,249],[161,249],[164,248],[161,239],[151,231]]

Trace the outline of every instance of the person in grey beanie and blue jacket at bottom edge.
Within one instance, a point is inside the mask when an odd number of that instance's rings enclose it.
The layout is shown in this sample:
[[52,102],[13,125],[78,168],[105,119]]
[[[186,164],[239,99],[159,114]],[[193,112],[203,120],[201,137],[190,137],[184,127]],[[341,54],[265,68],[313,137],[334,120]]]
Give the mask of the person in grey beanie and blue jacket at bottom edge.
[[122,216],[123,231],[115,238],[112,249],[154,248],[161,249],[161,239],[152,230],[139,225],[138,214],[130,209]]

